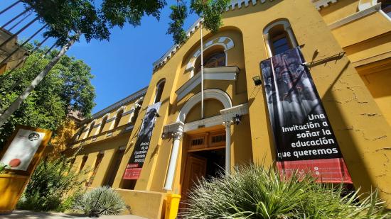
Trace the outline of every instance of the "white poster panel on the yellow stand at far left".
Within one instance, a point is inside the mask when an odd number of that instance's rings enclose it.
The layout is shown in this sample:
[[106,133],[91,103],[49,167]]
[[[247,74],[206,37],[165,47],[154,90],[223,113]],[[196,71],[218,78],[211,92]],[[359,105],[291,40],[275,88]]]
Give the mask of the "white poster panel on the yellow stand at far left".
[[44,137],[45,133],[20,128],[0,163],[6,164],[9,169],[26,171]]

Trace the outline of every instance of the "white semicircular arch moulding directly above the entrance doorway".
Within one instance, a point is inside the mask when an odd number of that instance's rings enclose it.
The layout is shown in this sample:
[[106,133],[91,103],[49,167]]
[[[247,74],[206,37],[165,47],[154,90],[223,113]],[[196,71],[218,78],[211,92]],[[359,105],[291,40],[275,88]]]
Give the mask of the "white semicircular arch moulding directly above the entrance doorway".
[[[204,91],[204,99],[216,99],[223,103],[224,108],[231,108],[232,107],[232,101],[230,99],[230,96],[225,93],[225,91],[222,91],[220,89],[206,89]],[[176,118],[176,121],[183,122],[186,119],[186,115],[188,112],[201,101],[201,93],[195,94],[191,97],[191,99],[188,99],[188,101],[185,103],[185,105],[181,108],[181,111],[179,112],[178,118]],[[220,123],[221,124],[221,123]]]

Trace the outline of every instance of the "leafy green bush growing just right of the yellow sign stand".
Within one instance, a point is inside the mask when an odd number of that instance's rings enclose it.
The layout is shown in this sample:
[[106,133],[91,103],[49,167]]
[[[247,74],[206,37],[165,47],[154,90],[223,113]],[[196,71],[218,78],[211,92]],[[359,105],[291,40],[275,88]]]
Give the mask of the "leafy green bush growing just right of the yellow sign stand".
[[65,157],[53,161],[41,160],[28,181],[17,208],[42,211],[69,209],[72,204],[65,201],[75,199],[74,196],[78,192],[71,193],[71,191],[80,190],[84,182],[80,180],[80,176],[85,174],[85,172],[73,172],[70,160]]

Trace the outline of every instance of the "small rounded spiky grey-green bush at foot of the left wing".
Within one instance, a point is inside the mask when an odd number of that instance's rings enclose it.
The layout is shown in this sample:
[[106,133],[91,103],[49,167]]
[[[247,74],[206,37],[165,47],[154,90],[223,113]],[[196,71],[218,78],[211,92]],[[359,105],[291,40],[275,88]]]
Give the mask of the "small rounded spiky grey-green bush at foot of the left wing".
[[92,189],[75,202],[74,210],[81,210],[86,215],[119,215],[125,210],[125,202],[117,191],[108,186]]

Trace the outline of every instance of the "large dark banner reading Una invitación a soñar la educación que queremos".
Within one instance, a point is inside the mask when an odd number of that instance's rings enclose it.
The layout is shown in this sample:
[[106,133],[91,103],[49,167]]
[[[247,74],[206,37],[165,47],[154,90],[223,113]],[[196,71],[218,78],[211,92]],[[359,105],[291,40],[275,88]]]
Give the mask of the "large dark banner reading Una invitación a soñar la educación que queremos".
[[299,47],[261,62],[277,167],[286,176],[351,183],[336,137]]

